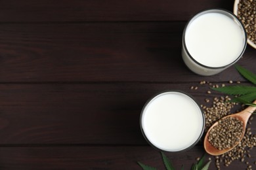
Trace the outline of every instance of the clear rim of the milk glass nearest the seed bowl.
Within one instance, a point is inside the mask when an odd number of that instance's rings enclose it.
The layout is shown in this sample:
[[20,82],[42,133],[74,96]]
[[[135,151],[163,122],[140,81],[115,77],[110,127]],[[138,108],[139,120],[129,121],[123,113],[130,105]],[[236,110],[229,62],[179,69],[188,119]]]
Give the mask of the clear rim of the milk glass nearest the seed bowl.
[[[231,63],[227,64],[227,65],[223,65],[223,66],[220,66],[220,67],[211,67],[211,66],[208,66],[208,65],[204,65],[198,61],[196,61],[196,59],[194,59],[190,52],[188,52],[188,48],[186,47],[186,41],[185,41],[185,35],[186,35],[186,29],[188,27],[188,25],[193,21],[195,20],[196,18],[198,18],[198,16],[201,16],[202,14],[207,14],[207,13],[211,13],[211,12],[218,12],[218,13],[221,13],[221,14],[224,14],[230,18],[232,18],[233,20],[236,20],[236,23],[238,24],[239,27],[241,27],[241,30],[242,32],[244,33],[244,47],[243,47],[243,50],[242,52],[240,53],[240,55],[238,56],[238,58],[234,59],[234,61],[232,61]],[[184,26],[184,31],[182,33],[182,46],[184,47],[184,50],[186,52],[186,54],[189,56],[190,59],[192,59],[192,61],[194,61],[195,63],[197,63],[198,65],[204,67],[204,68],[207,68],[207,69],[224,69],[224,68],[227,68],[231,65],[233,65],[234,63],[236,63],[241,57],[242,55],[244,54],[244,51],[245,51],[245,48],[247,46],[247,33],[245,31],[245,27],[244,27],[244,24],[242,24],[241,20],[235,15],[233,14],[232,12],[230,12],[229,10],[225,10],[225,9],[220,9],[220,8],[212,8],[212,9],[204,9],[204,10],[201,10],[200,12],[196,13],[194,16],[192,16],[188,22],[186,23],[186,25]]]

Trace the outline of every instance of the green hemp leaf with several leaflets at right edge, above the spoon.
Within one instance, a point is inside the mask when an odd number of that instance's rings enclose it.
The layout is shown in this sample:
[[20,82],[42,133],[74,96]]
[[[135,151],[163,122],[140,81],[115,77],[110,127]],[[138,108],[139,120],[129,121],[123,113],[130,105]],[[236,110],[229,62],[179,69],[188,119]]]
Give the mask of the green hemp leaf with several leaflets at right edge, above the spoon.
[[[240,65],[236,65],[236,70],[244,76],[247,80],[256,85],[256,75],[251,71],[245,69]],[[254,105],[251,101],[256,99],[255,86],[225,86],[221,88],[211,88],[218,92],[226,93],[228,95],[236,95],[230,102],[244,103],[245,105]]]

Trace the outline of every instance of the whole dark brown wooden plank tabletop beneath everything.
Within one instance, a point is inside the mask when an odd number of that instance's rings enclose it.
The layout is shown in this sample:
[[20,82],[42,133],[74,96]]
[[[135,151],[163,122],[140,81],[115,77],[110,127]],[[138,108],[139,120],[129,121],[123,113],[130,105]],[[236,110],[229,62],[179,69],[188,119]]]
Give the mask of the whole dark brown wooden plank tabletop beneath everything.
[[[201,80],[247,84],[234,67],[205,77],[181,59],[184,25],[212,7],[232,10],[233,1],[0,1],[0,169],[164,169],[140,133],[144,103],[163,90],[202,104],[221,95]],[[247,46],[238,63],[256,73],[255,62]],[[204,153],[198,143],[167,156],[190,169]]]

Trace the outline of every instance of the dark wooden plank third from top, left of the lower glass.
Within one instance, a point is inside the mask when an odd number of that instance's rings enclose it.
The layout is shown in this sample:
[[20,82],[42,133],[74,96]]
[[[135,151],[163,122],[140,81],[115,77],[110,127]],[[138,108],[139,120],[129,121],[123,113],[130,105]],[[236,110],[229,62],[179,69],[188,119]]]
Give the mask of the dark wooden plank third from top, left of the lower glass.
[[0,144],[145,145],[140,112],[156,93],[182,90],[203,105],[220,96],[198,83],[0,84],[0,90]]

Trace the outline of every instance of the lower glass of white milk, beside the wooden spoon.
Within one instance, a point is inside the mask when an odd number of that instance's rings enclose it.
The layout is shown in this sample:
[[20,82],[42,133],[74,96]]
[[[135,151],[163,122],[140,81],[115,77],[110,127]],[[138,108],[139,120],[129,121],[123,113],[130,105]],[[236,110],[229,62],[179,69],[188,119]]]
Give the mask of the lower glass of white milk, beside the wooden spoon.
[[163,152],[181,152],[192,148],[202,137],[205,119],[192,96],[167,91],[147,101],[140,114],[144,138]]

